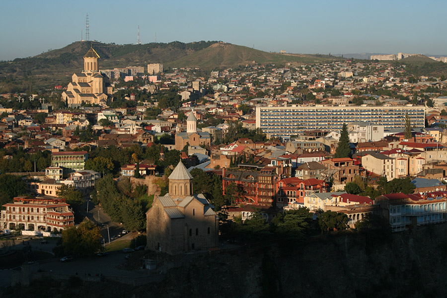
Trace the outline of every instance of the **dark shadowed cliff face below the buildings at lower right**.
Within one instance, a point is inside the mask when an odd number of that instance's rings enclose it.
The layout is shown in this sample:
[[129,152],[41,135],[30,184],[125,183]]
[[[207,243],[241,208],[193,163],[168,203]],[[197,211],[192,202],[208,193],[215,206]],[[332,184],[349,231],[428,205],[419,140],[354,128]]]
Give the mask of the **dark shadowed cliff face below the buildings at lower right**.
[[158,297],[443,297],[447,225],[259,244],[171,270]]

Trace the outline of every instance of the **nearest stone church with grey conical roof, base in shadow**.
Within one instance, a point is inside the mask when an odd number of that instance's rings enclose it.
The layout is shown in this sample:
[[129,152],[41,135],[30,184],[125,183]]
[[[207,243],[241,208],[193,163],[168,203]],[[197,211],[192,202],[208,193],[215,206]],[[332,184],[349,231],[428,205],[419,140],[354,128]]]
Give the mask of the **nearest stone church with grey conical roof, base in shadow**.
[[146,213],[148,248],[179,254],[219,245],[219,220],[203,194],[193,194],[192,176],[180,161],[169,176],[169,193],[155,195]]

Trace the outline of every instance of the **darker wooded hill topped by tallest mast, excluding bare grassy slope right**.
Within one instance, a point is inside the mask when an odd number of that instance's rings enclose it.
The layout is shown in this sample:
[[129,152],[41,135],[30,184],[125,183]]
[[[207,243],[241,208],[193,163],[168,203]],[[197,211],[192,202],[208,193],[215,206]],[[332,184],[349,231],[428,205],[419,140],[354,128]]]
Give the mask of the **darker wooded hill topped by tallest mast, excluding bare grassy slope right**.
[[216,41],[182,43],[149,43],[144,45],[115,45],[77,41],[62,49],[40,55],[0,63],[0,76],[32,77],[37,86],[66,85],[74,72],[83,69],[82,57],[90,45],[100,56],[100,69],[126,66],[146,66],[148,63],[165,63],[209,47]]

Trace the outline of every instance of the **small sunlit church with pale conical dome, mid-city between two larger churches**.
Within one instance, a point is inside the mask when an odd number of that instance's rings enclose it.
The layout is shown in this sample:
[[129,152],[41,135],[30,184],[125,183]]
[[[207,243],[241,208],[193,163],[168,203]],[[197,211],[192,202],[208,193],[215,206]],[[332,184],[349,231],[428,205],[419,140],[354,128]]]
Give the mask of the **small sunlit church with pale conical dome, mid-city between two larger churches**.
[[186,119],[186,132],[175,134],[175,149],[182,150],[186,144],[190,146],[211,145],[210,133],[197,130],[197,118],[193,112],[189,113]]

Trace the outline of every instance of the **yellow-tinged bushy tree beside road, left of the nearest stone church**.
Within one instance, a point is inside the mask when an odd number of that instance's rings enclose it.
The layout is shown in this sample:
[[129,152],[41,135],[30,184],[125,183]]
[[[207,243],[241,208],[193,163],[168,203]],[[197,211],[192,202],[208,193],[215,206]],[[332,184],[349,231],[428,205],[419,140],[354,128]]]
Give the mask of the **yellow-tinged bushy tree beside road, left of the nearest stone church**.
[[77,227],[71,226],[62,231],[62,247],[67,255],[87,256],[101,251],[101,229],[84,219]]

